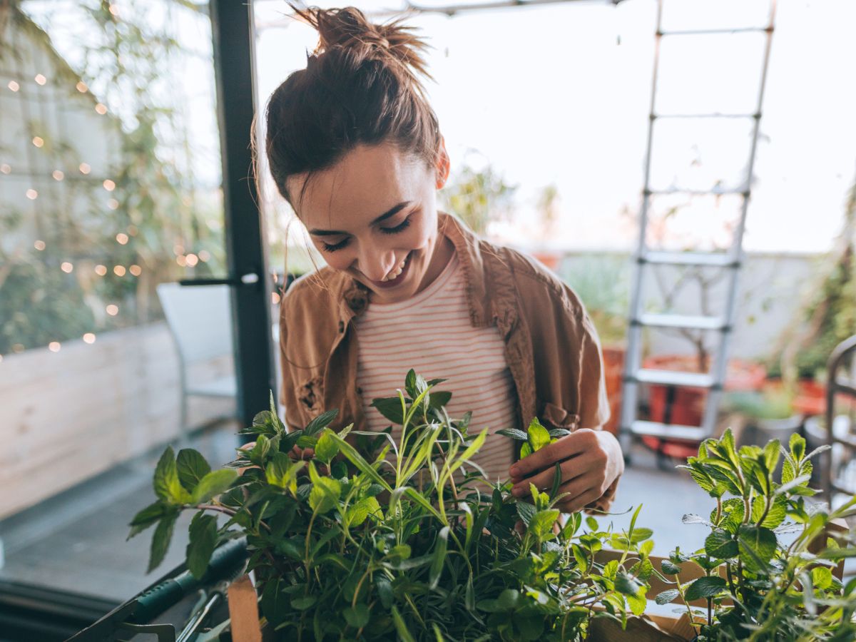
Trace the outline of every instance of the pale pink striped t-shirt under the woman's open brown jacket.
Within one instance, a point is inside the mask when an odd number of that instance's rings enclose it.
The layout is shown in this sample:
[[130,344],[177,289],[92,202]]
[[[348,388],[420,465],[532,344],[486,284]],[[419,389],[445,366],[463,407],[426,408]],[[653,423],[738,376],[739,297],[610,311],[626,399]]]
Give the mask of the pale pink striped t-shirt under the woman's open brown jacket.
[[[413,368],[425,379],[446,379],[437,390],[448,390],[446,406],[452,419],[473,412],[469,432],[488,428],[490,435],[474,461],[490,481],[508,478],[512,443],[493,436],[517,426],[514,380],[505,360],[505,343],[496,326],[473,328],[467,288],[457,255],[419,294],[397,303],[375,303],[356,318],[360,347],[357,385],[362,390],[370,430],[381,431],[389,420],[371,407],[373,399],[404,389]],[[396,431],[395,429],[398,429]],[[401,426],[393,427],[393,437]]]

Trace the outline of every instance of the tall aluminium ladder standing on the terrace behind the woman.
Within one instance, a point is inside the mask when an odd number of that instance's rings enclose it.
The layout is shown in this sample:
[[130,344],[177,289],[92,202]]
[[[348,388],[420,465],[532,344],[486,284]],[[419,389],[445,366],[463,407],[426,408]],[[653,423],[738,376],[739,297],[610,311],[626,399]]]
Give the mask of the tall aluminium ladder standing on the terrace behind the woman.
[[[742,27],[733,29],[685,30],[663,32],[663,0],[657,2],[657,33],[654,49],[654,73],[651,88],[651,110],[648,121],[648,143],[645,152],[645,187],[643,190],[642,207],[639,213],[639,241],[635,256],[636,268],[633,276],[633,290],[630,300],[629,330],[627,340],[627,355],[624,365],[624,383],[621,402],[620,438],[622,449],[629,460],[633,436],[650,435],[660,439],[675,439],[681,442],[700,443],[713,435],[716,426],[716,414],[726,377],[728,357],[728,341],[734,328],[735,307],[738,290],[738,276],[744,262],[743,233],[746,225],[746,210],[752,185],[752,169],[755,163],[755,152],[758,146],[758,130],[761,120],[761,106],[764,100],[764,86],[767,78],[767,68],[770,61],[770,44],[776,17],[776,0],[770,0],[770,15],[766,27]],[[752,114],[657,114],[657,72],[659,68],[660,42],[663,38],[672,36],[693,36],[698,34],[763,32],[766,34],[764,43],[764,62],[761,69],[760,88],[758,91],[757,108]],[[710,190],[651,189],[651,143],[654,134],[654,123],[663,118],[746,118],[752,119],[752,142],[749,152],[749,162],[746,178],[737,189],[722,189],[713,187]],[[710,194],[740,194],[740,219],[734,229],[734,238],[727,253],[714,252],[654,252],[647,247],[646,236],[649,224],[649,209],[651,196],[664,193],[686,193],[688,195]],[[644,312],[645,273],[652,265],[674,265],[686,267],[714,267],[728,270],[728,292],[722,316],[688,316],[678,314],[651,314]],[[698,374],[690,372],[674,372],[643,368],[642,330],[645,327],[672,328],[686,330],[713,330],[719,335],[717,349],[713,352],[713,360],[709,373]],[[692,387],[707,389],[704,416],[701,426],[664,424],[653,421],[643,421],[637,418],[639,401],[639,384],[654,383],[669,387]],[[668,420],[668,417],[665,418]]]

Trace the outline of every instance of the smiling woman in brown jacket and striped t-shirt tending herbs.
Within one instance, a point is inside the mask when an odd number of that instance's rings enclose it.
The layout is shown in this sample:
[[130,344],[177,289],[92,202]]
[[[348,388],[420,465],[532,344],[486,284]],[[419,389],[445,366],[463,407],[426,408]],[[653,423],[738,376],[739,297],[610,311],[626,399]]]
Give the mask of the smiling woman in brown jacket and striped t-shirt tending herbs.
[[[297,10],[297,9],[295,9]],[[289,425],[339,410],[356,430],[388,425],[372,399],[413,367],[443,377],[451,414],[574,432],[521,461],[489,437],[477,460],[514,494],[549,488],[558,508],[609,508],[624,464],[611,434],[597,332],[574,292],[526,255],[479,240],[437,211],[449,155],[418,75],[425,43],[358,9],[297,10],[318,30],[306,69],[267,106],[276,187],[327,266],[282,300],[282,404]]]

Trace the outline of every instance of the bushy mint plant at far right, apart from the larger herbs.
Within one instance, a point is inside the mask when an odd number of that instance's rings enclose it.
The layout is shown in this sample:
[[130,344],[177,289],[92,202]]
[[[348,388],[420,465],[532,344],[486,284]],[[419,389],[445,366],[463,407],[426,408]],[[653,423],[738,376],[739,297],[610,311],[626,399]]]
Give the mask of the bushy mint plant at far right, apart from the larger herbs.
[[[856,635],[856,580],[842,592],[831,571],[837,562],[856,556],[852,536],[829,538],[819,554],[810,552],[831,520],[856,514],[856,498],[832,512],[806,502],[815,494],[807,485],[811,458],[822,450],[806,454],[799,435],[791,437],[789,449],[773,440],[764,448],[738,450],[727,430],[722,439],[702,443],[698,456],[681,466],[716,499],[716,508],[709,519],[684,516],[685,523],[708,526],[710,535],[704,549],[689,555],[677,549],[663,561],[663,574],[675,577],[676,586],[657,601],[680,597],[699,640],[845,640]],[[774,481],[782,457],[781,478]],[[787,532],[796,532],[790,543],[782,540]],[[678,574],[686,564],[697,565],[704,576],[682,585]],[[707,602],[700,616],[690,606],[697,599]]]

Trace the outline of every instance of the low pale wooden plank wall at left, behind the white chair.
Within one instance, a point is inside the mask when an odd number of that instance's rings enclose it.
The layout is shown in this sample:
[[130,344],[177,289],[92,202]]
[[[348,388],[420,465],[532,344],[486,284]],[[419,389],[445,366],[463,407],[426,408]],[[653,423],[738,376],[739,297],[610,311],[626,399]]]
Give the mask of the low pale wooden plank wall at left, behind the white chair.
[[[231,357],[195,366],[197,381],[232,372]],[[178,357],[165,323],[4,355],[0,363],[0,519],[179,434]],[[234,401],[191,398],[189,424]]]

